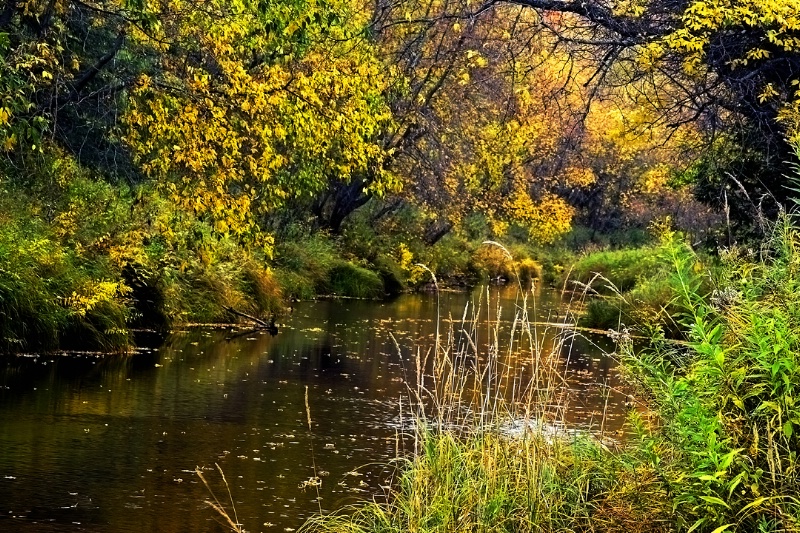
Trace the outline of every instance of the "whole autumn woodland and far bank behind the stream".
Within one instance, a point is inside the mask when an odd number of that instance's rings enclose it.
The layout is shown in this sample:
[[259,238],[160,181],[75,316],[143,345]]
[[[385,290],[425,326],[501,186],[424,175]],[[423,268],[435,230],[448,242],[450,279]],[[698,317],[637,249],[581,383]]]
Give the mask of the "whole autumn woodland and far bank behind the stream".
[[5,0],[0,350],[752,242],[799,48],[788,0]]

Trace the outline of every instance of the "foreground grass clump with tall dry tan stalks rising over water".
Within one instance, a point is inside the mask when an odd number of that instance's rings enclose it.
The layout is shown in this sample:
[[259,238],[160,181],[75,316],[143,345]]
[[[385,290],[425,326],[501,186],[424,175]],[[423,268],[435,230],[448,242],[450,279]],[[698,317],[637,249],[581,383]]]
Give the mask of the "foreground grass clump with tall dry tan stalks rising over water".
[[304,531],[663,529],[663,509],[647,505],[648,495],[665,496],[653,470],[566,430],[574,331],[537,329],[536,290],[523,287],[514,309],[491,307],[487,294],[449,322],[458,326],[443,331],[435,349],[411,357],[404,419],[413,445],[386,503],[316,517]]

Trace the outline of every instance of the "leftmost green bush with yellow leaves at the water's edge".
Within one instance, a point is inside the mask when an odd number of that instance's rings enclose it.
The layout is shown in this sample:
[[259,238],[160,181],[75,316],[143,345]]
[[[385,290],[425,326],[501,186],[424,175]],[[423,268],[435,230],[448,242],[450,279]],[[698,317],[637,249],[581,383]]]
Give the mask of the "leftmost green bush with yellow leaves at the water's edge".
[[63,339],[126,348],[127,286],[102,262],[83,265],[47,225],[13,209],[0,224],[0,350],[52,349]]

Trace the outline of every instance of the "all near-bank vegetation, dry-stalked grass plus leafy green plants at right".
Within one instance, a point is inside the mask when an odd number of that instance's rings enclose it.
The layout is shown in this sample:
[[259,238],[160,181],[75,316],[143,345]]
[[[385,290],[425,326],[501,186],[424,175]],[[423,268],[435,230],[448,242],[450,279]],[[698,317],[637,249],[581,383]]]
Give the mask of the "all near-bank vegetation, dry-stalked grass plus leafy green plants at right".
[[[631,411],[624,443],[553,437],[557,358],[540,350],[530,389],[511,401],[497,400],[514,379],[502,365],[491,379],[472,370],[480,390],[459,374],[418,392],[435,396],[421,402],[435,408],[417,413],[416,453],[399,467],[388,503],[320,516],[305,530],[800,531],[800,232],[784,219],[759,249],[723,250],[714,268],[669,231],[654,251],[685,340],[668,340],[658,320],[646,341],[618,337],[647,405]],[[441,357],[450,361],[452,349]],[[465,398],[480,413],[466,431],[447,414]],[[521,435],[498,429],[522,415]]]

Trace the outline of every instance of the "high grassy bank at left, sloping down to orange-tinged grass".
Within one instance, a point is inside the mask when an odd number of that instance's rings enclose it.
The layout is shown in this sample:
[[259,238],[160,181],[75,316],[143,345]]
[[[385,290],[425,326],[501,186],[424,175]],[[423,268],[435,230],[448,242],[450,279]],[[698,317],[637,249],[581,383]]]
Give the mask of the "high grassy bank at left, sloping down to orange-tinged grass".
[[[76,170],[76,172],[78,172]],[[281,293],[264,255],[146,189],[70,176],[0,200],[0,351],[124,350],[131,328],[264,315]]]

